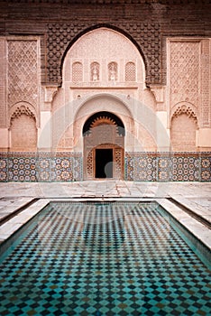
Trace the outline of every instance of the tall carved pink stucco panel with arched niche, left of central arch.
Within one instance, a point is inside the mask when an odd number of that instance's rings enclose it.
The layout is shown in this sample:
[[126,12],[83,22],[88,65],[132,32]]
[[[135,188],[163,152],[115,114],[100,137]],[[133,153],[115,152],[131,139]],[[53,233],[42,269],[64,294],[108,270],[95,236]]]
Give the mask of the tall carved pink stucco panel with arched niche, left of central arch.
[[10,36],[0,42],[3,70],[1,127],[7,127],[8,131],[6,149],[33,152],[37,150],[40,121],[39,38]]

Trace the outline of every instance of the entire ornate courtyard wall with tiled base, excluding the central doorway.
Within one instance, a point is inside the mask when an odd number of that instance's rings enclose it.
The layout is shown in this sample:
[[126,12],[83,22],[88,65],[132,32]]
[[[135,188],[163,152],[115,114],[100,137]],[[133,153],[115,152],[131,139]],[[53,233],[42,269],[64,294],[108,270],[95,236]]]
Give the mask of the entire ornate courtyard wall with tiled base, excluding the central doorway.
[[83,180],[105,110],[126,180],[211,180],[209,0],[1,0],[0,72],[1,181]]

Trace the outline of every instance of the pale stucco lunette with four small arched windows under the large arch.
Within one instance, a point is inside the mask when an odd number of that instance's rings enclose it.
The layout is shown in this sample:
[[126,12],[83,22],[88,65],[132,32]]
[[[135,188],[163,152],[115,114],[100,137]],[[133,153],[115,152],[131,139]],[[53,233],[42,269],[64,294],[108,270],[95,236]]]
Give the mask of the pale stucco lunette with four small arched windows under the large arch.
[[82,34],[65,52],[63,87],[66,82],[74,89],[77,86],[93,87],[93,81],[108,87],[114,82],[121,86],[129,85],[129,82],[144,83],[143,58],[126,35],[108,27],[98,27]]

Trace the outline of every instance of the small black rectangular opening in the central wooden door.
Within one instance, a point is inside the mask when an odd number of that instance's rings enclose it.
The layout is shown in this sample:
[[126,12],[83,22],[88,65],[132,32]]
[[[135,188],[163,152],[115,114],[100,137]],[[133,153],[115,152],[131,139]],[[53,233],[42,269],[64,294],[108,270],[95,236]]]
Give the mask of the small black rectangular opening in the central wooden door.
[[96,149],[96,178],[113,178],[113,149]]

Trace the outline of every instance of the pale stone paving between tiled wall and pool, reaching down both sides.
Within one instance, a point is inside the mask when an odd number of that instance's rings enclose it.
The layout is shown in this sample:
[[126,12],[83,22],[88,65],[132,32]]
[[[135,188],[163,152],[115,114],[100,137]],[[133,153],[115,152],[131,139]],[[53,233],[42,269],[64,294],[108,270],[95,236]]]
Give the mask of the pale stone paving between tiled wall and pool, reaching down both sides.
[[41,198],[168,198],[211,216],[211,183],[81,181],[0,183],[0,219],[32,199]]

